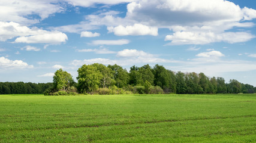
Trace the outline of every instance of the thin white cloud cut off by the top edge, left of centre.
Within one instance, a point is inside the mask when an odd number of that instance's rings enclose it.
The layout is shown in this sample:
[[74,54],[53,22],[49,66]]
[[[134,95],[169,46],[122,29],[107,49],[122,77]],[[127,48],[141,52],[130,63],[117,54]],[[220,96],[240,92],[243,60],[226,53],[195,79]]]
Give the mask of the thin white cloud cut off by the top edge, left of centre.
[[134,0],[65,0],[68,3],[74,5],[74,6],[81,6],[81,7],[90,7],[95,4],[106,4],[106,5],[115,5],[115,4],[121,4],[121,3],[127,3],[132,2]]

